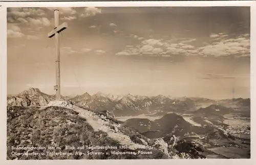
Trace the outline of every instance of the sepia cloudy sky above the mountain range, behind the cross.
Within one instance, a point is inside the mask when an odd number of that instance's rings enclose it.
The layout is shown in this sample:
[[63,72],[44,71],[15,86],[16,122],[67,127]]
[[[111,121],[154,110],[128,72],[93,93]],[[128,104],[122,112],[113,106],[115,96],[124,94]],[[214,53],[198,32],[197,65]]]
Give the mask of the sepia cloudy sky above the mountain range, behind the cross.
[[[54,94],[54,8],[8,9],[8,93]],[[61,95],[250,97],[249,7],[59,8]]]

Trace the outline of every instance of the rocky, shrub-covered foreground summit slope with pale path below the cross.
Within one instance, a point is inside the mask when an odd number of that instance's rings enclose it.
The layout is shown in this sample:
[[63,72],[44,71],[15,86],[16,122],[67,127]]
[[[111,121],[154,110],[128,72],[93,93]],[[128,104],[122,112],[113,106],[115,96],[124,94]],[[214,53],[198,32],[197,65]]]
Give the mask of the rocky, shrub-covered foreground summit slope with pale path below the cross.
[[[112,120],[108,113],[98,114],[79,108],[66,101],[50,102],[45,107],[9,106],[7,109],[7,159],[166,159],[193,158],[186,152],[179,152],[175,146],[179,140],[168,144],[162,138],[147,138],[136,130]],[[16,146],[13,148],[12,146]],[[29,148],[41,146],[38,155],[13,155],[12,152],[31,152]],[[44,148],[48,146],[47,148]],[[51,148],[49,148],[51,146]],[[66,146],[72,146],[73,149]],[[82,154],[88,149],[80,146],[96,147],[103,154]],[[125,147],[123,147],[125,146]],[[27,149],[26,149],[27,148]],[[67,155],[47,155],[48,152],[69,153]],[[133,152],[135,154],[108,154],[111,152]],[[138,154],[138,153],[148,154]],[[204,156],[201,156],[204,157]],[[197,157],[194,157],[197,158]]]

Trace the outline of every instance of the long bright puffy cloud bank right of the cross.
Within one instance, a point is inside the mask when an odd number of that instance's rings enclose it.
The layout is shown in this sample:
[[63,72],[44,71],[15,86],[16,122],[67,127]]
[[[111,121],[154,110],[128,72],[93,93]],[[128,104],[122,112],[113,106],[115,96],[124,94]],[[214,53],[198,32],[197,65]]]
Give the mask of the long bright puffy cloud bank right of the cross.
[[[212,34],[215,35],[215,34]],[[225,34],[226,35],[226,34]],[[135,37],[136,35],[130,35]],[[138,45],[127,45],[126,48],[117,53],[117,55],[148,55],[169,57],[173,55],[186,56],[240,56],[246,57],[250,55],[250,39],[249,35],[238,35],[237,38],[223,38],[223,34],[218,35],[218,40],[211,44],[204,42],[203,46],[196,47],[188,42],[196,41],[196,39],[185,39],[181,42],[178,40],[163,39],[146,39]],[[247,36],[247,37],[246,37]],[[214,37],[217,37],[215,35]],[[209,42],[212,40],[209,40]]]

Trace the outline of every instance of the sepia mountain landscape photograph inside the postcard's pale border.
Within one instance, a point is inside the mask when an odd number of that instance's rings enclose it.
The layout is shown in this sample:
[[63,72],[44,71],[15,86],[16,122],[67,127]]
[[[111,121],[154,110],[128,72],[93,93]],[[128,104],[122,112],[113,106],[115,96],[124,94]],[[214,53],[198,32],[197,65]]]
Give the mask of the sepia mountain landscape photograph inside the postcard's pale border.
[[7,8],[6,159],[250,159],[250,10]]

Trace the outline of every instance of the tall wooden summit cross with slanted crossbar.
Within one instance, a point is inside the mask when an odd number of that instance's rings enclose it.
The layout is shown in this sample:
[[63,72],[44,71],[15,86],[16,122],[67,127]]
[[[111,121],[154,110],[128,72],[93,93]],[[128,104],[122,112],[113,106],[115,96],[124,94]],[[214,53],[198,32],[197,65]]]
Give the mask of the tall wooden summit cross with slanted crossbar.
[[56,85],[54,89],[56,90],[56,100],[60,100],[60,52],[59,52],[59,33],[68,28],[68,23],[64,22],[59,25],[59,11],[54,10],[54,21],[55,28],[50,33],[48,33],[48,37],[52,38],[55,36],[55,45],[56,45]]

